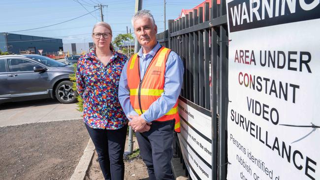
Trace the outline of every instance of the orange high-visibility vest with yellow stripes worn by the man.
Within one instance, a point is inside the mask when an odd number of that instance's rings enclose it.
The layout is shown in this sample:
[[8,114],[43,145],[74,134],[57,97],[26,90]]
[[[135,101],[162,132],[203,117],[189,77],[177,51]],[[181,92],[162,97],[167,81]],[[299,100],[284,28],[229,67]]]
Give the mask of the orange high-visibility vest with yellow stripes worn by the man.
[[[130,89],[130,103],[139,115],[147,111],[164,92],[165,63],[171,50],[161,47],[151,60],[145,75],[140,81],[140,63],[138,53],[128,61],[127,78]],[[178,100],[171,110],[157,119],[157,121],[175,120],[174,131],[180,132],[180,117],[178,114]]]

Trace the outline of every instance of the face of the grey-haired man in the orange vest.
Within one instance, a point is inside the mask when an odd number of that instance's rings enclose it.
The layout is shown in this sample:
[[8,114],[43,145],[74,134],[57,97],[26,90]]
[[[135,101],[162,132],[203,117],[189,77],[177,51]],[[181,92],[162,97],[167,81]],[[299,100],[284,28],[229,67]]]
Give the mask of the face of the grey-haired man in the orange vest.
[[157,25],[153,25],[148,17],[133,22],[134,34],[144,48],[153,48],[157,44]]

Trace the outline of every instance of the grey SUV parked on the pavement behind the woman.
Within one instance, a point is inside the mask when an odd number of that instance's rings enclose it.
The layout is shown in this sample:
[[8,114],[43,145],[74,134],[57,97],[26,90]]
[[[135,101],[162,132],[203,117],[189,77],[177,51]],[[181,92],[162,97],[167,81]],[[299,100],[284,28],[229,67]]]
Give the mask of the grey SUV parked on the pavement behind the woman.
[[73,67],[40,55],[0,56],[0,103],[57,98],[74,103]]

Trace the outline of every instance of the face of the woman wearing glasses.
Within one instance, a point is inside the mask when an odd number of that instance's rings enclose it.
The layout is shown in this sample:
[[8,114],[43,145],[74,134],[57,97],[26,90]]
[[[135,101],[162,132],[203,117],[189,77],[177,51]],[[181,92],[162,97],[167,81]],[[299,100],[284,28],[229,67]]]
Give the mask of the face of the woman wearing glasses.
[[[95,37],[94,34],[96,34],[96,33],[100,33],[99,38]],[[106,33],[108,34],[107,38],[103,37],[103,36],[105,36]],[[111,33],[110,30],[108,30],[106,27],[96,26],[96,28],[94,29],[92,38],[93,38],[97,48],[105,48],[105,47],[110,46],[110,43],[112,40],[112,35],[110,33]]]

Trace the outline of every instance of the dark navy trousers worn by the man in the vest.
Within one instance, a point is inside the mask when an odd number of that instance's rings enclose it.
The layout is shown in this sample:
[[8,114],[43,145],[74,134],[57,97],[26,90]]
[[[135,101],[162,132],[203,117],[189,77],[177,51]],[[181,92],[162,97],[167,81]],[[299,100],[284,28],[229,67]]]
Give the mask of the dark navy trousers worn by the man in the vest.
[[174,180],[171,169],[174,123],[175,120],[153,121],[149,131],[135,133],[150,180]]

